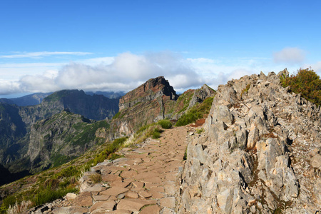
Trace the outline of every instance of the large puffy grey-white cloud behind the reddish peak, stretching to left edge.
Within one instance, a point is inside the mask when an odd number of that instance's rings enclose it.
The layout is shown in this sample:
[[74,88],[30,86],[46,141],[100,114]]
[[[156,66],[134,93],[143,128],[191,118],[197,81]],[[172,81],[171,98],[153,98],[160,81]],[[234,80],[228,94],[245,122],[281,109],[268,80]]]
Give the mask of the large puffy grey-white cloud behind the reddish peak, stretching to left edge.
[[[165,76],[170,84],[178,89],[198,87],[204,80],[195,72],[189,61],[171,52],[147,53],[136,55],[119,54],[116,57],[93,58],[85,62],[91,65],[71,62],[61,68],[53,65],[43,72],[33,72],[23,75],[17,81],[6,81],[6,86],[12,86],[11,91],[0,88],[0,94],[9,92],[47,92],[61,89],[83,89],[87,91],[130,91],[149,78]],[[24,67],[26,66],[26,67]],[[29,69],[24,65],[24,69]],[[39,65],[39,68],[42,65]],[[49,64],[50,66],[50,64]],[[19,65],[7,65],[15,69]],[[41,67],[42,68],[42,67]],[[4,67],[0,69],[3,71]],[[15,86],[15,87],[13,87]],[[9,87],[8,87],[9,88]]]

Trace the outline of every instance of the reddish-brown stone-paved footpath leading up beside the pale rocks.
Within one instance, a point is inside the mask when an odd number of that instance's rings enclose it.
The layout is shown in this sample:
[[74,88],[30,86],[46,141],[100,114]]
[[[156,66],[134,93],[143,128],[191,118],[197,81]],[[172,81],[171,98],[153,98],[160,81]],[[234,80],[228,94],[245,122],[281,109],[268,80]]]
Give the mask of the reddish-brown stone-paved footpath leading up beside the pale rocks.
[[[99,163],[83,175],[78,195],[69,193],[30,213],[175,213],[175,180],[187,131],[172,128],[158,140],[124,148],[123,158]],[[97,177],[101,182],[93,181]]]

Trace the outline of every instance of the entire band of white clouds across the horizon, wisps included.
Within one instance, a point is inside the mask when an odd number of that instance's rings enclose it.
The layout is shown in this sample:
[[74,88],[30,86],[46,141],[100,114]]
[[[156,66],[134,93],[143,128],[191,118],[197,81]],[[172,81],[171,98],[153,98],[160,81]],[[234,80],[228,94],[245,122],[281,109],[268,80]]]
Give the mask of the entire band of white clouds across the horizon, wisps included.
[[[0,58],[88,54],[91,53],[44,51],[0,56]],[[199,88],[204,83],[216,88],[231,78],[240,78],[260,71],[278,72],[285,68],[285,65],[288,69],[290,66],[289,71],[307,66],[303,64],[305,51],[298,48],[277,51],[273,54],[272,60],[271,58],[183,58],[173,52],[163,51],[142,55],[126,52],[115,57],[89,58],[69,63],[27,63],[30,67],[26,64],[2,64],[0,73],[14,71],[17,74],[16,79],[0,79],[0,95],[52,92],[62,89],[131,91],[149,78],[157,76],[165,76],[176,91],[183,92],[188,88]],[[296,67],[298,65],[299,67]],[[315,71],[321,71],[321,62],[312,66],[315,67]]]

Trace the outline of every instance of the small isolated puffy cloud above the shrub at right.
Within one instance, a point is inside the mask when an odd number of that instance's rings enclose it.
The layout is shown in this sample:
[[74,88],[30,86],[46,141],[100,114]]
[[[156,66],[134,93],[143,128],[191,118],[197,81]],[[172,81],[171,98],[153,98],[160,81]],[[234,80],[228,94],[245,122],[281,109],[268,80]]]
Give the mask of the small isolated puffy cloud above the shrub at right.
[[273,54],[275,63],[302,63],[305,60],[305,51],[298,48],[285,48]]

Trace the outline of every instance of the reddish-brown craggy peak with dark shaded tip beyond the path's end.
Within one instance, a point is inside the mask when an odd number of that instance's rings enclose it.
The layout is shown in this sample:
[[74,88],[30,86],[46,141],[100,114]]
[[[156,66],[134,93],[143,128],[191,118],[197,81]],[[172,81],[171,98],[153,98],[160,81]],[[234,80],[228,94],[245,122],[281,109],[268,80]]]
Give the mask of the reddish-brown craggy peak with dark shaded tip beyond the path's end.
[[172,106],[177,98],[163,76],[149,79],[120,99],[120,111],[112,124],[113,133],[128,136],[141,126],[164,119],[167,106]]

